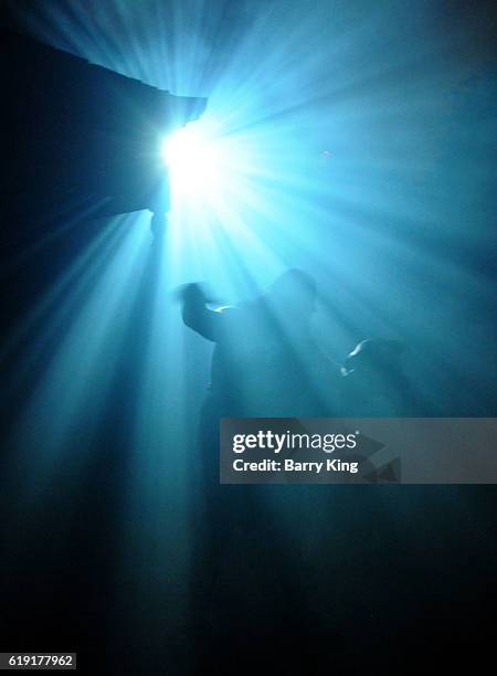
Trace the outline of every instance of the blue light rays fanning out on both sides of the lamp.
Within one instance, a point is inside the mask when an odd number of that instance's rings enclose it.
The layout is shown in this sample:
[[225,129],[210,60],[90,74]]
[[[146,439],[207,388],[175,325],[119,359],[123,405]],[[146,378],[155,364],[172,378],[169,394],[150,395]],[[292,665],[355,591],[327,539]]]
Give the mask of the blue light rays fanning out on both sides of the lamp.
[[[207,282],[237,303],[302,267],[317,281],[313,330],[330,359],[367,336],[404,340],[427,401],[441,372],[488,378],[491,50],[484,27],[464,32],[450,14],[445,3],[398,0],[54,1],[28,13],[27,27],[54,46],[209,97],[200,120],[158,142],[172,198],[160,260],[150,261],[149,214],[110,220],[12,339],[34,346],[19,367],[36,378],[17,420],[33,503],[61,467],[77,477],[96,463],[92,443],[126,384],[123,363],[138,371],[120,412],[131,451],[115,479],[124,612],[142,598],[159,604],[175,580],[178,626],[187,615],[190,469],[212,345],[183,326],[179,284]],[[472,403],[470,387],[459,394]],[[289,494],[273,495],[268,511],[298,538]],[[298,508],[306,532],[295,551],[318,561],[309,525],[338,525],[342,513],[313,495]],[[402,507],[389,515],[403,530]]]

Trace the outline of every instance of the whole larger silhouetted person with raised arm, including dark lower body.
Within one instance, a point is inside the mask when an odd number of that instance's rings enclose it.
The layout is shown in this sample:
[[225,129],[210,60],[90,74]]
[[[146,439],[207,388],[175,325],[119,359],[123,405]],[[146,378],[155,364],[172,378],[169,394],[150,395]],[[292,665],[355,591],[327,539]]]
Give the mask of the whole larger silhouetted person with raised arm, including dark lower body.
[[[244,626],[246,613],[241,612],[251,593],[247,584],[260,590],[266,610],[272,609],[268,616],[278,622],[289,625],[292,615],[304,613],[295,553],[267,509],[267,492],[274,495],[276,487],[219,484],[220,419],[331,415],[330,382],[338,389],[339,374],[313,339],[316,285],[304,272],[288,271],[265,295],[216,311],[209,309],[210,299],[198,284],[183,287],[181,297],[187,326],[214,342],[195,463],[202,466],[198,494],[203,505],[195,527],[192,599],[195,635],[205,644],[202,616],[218,616],[218,635],[220,623],[240,635],[254,631],[253,623]],[[296,499],[302,487],[293,488]],[[244,561],[251,561],[250,570],[241,574]],[[271,582],[265,571],[272,571]]]

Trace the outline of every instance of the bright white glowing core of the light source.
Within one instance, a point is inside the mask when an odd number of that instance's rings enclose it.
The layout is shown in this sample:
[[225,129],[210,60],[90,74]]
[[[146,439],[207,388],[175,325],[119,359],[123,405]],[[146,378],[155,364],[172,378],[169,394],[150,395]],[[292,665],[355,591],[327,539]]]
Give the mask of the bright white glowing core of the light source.
[[171,186],[179,192],[212,188],[221,163],[215,141],[209,141],[194,128],[184,127],[167,136],[160,155],[169,169]]

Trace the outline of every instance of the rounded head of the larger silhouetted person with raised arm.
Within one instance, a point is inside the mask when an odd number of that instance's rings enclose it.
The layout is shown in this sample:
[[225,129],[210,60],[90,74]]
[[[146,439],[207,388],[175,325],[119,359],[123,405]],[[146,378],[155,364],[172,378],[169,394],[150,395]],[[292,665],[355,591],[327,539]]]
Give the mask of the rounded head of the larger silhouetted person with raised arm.
[[316,282],[302,270],[287,270],[269,288],[268,297],[282,310],[309,317],[316,309]]

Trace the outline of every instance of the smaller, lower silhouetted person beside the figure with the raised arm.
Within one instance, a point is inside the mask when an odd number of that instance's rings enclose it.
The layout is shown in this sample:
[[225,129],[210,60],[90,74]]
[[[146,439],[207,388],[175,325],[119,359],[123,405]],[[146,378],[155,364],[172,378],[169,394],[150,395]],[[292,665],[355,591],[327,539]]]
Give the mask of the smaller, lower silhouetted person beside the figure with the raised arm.
[[367,338],[342,367],[342,414],[357,418],[420,415],[419,403],[402,368],[406,346],[398,340]]

